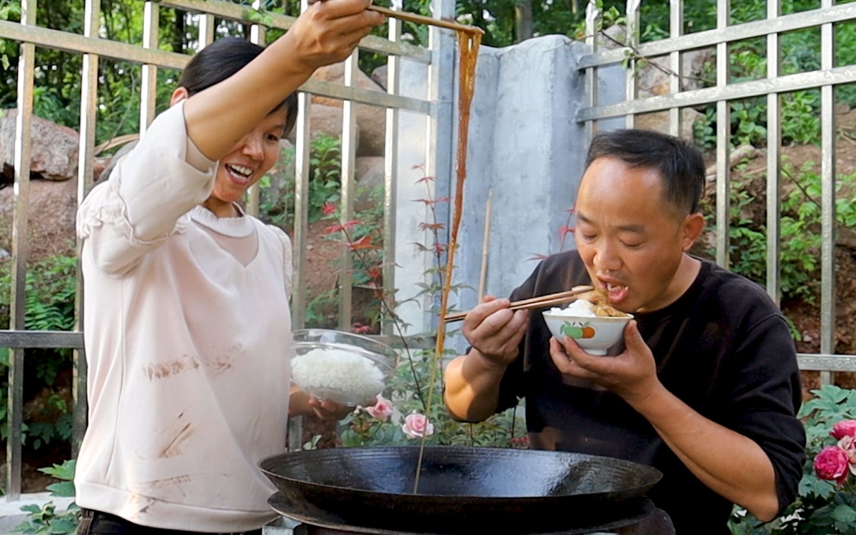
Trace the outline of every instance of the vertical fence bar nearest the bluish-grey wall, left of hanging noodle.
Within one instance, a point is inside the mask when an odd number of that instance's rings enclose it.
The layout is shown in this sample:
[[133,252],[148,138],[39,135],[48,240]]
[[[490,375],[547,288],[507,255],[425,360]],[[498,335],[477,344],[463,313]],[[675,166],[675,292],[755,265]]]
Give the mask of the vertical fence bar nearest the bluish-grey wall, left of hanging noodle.
[[[391,8],[401,9],[400,2],[391,3]],[[401,21],[387,18],[389,40],[396,43],[401,39]],[[386,92],[399,93],[401,58],[389,56],[386,66]],[[395,194],[398,185],[398,116],[397,108],[386,109],[386,140],[383,144],[383,297],[391,301],[395,295]],[[391,318],[381,325],[384,335],[393,334]]]

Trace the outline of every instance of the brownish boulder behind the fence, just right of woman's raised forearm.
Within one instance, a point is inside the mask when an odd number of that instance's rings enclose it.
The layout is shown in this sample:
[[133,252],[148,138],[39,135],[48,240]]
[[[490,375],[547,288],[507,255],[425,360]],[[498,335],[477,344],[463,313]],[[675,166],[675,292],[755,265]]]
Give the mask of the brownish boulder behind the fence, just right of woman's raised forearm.
[[[345,79],[345,64],[342,62],[319,68],[315,74],[312,74],[312,78],[342,85]],[[378,86],[377,82],[361,70],[357,70],[354,74],[354,86],[369,91],[385,92],[383,87]],[[336,98],[313,96],[312,102],[342,108],[342,101]],[[356,114],[357,125],[360,127],[360,144],[357,146],[357,156],[383,156],[386,109],[368,104],[357,104],[354,106],[354,113]]]

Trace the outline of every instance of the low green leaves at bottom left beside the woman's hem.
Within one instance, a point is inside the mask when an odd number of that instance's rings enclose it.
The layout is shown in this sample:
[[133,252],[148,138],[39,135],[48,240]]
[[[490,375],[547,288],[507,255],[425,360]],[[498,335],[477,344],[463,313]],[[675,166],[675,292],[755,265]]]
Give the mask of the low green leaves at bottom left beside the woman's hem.
[[[59,483],[48,485],[47,490],[51,491],[51,496],[56,497],[74,497],[74,461],[65,461],[62,465],[54,465],[53,467],[39,468],[39,472],[46,473],[59,479]],[[25,505],[21,507],[21,511],[27,513],[27,520],[21,522],[20,525],[12,529],[12,533],[24,533],[26,535],[35,535],[41,533],[51,534],[72,534],[77,532],[77,525],[80,523],[80,508],[72,503],[68,509],[62,513],[56,513],[56,506],[53,502],[47,502],[42,507],[38,505]]]

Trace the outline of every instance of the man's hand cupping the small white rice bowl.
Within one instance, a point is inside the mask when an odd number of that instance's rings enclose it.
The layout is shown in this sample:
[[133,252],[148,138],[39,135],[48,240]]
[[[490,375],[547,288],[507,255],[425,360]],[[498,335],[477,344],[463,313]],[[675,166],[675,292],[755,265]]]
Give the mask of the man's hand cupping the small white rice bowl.
[[563,343],[550,338],[550,356],[563,374],[588,379],[635,406],[663,385],[657,378],[654,355],[639,334],[635,320],[624,328],[624,342],[624,353],[603,357],[587,354],[569,337],[565,337]]

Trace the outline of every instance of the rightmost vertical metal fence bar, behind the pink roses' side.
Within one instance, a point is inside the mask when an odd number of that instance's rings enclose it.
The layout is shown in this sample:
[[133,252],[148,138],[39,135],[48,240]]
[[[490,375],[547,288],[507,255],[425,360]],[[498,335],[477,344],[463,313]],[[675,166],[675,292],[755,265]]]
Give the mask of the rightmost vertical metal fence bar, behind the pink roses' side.
[[[821,8],[829,8],[833,0],[822,0]],[[820,68],[835,66],[835,33],[832,24],[820,27]],[[820,205],[821,249],[820,267],[820,352],[835,353],[835,86],[820,88]],[[833,381],[832,372],[821,372],[820,383]]]

